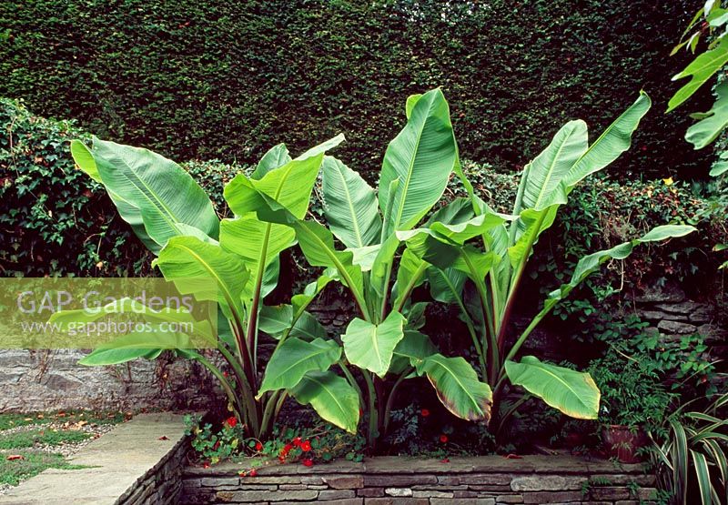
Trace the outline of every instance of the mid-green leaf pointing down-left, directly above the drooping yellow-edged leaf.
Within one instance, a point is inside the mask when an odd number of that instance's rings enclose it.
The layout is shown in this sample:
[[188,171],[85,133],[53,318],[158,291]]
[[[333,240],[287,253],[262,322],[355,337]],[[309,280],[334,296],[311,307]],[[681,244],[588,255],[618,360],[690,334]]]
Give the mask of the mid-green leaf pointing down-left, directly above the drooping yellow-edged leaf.
[[266,391],[291,389],[309,371],[326,371],[339,361],[341,348],[334,340],[316,338],[310,342],[288,338],[268,360],[258,398]]

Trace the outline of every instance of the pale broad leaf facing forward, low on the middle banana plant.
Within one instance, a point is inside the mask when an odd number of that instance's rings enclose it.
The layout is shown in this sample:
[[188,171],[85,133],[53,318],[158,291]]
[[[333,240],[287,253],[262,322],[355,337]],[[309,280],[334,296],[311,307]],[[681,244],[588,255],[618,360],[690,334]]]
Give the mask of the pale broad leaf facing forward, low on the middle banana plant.
[[399,312],[390,312],[379,325],[354,318],[341,336],[347,359],[383,378],[389,371],[394,348],[404,338],[404,324],[405,318]]

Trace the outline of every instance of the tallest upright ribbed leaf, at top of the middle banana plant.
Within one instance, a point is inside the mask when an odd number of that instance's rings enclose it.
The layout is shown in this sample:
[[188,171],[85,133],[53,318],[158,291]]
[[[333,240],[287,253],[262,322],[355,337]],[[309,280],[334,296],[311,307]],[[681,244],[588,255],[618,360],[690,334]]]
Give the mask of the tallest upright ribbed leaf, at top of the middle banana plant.
[[[447,186],[456,155],[448,103],[440,89],[433,89],[417,99],[384,155],[379,207],[387,230],[409,229],[427,214]],[[399,184],[390,187],[395,180]]]

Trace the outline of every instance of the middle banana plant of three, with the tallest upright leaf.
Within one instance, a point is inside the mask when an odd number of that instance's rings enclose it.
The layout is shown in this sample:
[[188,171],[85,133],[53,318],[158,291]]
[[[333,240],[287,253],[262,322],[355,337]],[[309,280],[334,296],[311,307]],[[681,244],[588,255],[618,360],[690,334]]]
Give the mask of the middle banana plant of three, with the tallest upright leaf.
[[[327,279],[349,289],[359,314],[340,338],[339,367],[359,391],[361,409],[369,420],[369,449],[386,431],[397,390],[408,378],[429,379],[443,405],[462,419],[490,418],[488,384],[478,379],[465,359],[438,352],[420,332],[425,304],[410,300],[412,290],[424,282],[429,264],[408,250],[398,256],[402,248],[398,234],[420,224],[439,202],[459,159],[450,109],[440,89],[410,97],[406,116],[406,126],[385,152],[379,191],[339,159],[324,157],[321,194],[329,227],[296,216],[280,199],[255,187],[235,188],[239,201],[247,202],[241,211],[257,212],[261,220],[287,226],[308,263],[327,268]],[[458,217],[452,211],[452,207],[440,209],[434,219],[450,223]],[[489,214],[463,233],[487,233],[505,219]],[[286,318],[298,314],[296,301],[281,312]],[[268,363],[261,391],[288,386],[289,346],[290,338],[284,335]]]

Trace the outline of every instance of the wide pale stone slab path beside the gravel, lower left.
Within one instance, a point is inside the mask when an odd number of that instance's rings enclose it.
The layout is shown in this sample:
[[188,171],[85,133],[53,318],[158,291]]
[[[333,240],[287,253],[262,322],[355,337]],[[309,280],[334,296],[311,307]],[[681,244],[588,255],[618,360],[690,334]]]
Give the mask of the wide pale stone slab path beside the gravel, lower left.
[[50,469],[21,482],[0,504],[112,505],[126,499],[136,483],[159,469],[185,442],[182,415],[139,414],[79,450],[69,462],[88,468]]

